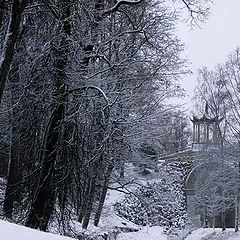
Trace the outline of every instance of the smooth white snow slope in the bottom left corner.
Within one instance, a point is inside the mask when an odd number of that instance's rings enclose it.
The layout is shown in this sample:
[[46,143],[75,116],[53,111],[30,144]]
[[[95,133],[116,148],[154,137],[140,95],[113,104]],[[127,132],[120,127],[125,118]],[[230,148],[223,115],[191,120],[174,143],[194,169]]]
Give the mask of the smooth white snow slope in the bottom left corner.
[[0,239],[2,240],[74,240],[51,233],[37,231],[17,224],[0,220]]

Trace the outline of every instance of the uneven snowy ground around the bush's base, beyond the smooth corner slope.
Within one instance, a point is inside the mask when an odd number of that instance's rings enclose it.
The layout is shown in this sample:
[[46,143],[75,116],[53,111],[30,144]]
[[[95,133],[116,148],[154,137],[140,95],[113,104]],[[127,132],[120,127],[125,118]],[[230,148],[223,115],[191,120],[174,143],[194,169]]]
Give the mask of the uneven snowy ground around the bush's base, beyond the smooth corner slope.
[[[138,182],[143,182],[146,178],[138,176],[138,173],[134,172],[131,169],[129,174],[131,177],[137,179]],[[156,180],[156,176],[154,176]],[[149,180],[149,179],[147,179]],[[129,179],[129,182],[130,179]],[[128,186],[128,189],[134,189],[134,184],[132,186]],[[107,193],[106,202],[104,204],[104,209],[102,213],[102,217],[99,223],[99,227],[93,226],[90,223],[88,230],[81,229],[81,232],[85,232],[86,235],[95,237],[102,235],[104,232],[110,232],[112,229],[130,229],[132,232],[122,232],[117,235],[117,240],[180,240],[183,239],[182,236],[186,236],[187,230],[183,230],[183,234],[179,234],[180,237],[175,236],[167,236],[164,234],[164,228],[159,226],[138,226],[126,219],[123,219],[116,215],[114,211],[113,205],[124,198],[126,196],[123,192],[119,192],[116,190],[109,190]],[[188,231],[187,231],[188,232]],[[193,231],[186,240],[240,240],[240,234],[234,233],[234,229],[227,230],[222,232],[221,229],[197,229]]]

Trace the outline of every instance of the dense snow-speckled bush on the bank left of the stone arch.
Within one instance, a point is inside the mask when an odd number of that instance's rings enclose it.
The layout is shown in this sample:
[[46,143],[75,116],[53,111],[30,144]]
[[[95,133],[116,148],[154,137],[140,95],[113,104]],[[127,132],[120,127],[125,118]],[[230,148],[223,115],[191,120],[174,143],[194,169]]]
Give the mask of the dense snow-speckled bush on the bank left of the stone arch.
[[115,204],[117,214],[138,225],[183,227],[187,221],[183,187],[188,162],[173,161],[164,167],[161,180],[148,182]]

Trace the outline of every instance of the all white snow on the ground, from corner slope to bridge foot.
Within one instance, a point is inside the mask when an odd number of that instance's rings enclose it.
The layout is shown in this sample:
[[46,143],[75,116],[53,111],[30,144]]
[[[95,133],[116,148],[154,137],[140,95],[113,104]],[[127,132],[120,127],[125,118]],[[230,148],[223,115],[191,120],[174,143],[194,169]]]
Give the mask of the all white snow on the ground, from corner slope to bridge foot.
[[[136,178],[136,173],[131,172],[131,177]],[[144,179],[141,179],[144,181]],[[129,189],[133,189],[133,186],[129,186]],[[125,189],[126,190],[126,189]],[[74,222],[74,232],[78,235],[84,233],[89,237],[96,237],[115,231],[119,233],[117,240],[180,240],[182,236],[167,236],[164,234],[164,228],[159,226],[138,226],[126,219],[123,219],[116,215],[114,211],[114,204],[123,199],[126,196],[123,192],[116,190],[109,190],[107,193],[107,199],[104,205],[102,217],[98,227],[95,227],[90,222],[90,226],[87,230],[82,229],[78,222]],[[188,231],[187,231],[188,232]],[[26,228],[24,226],[9,223],[7,221],[0,220],[0,239],[3,240],[74,240],[73,238],[64,237],[61,235],[44,233],[34,229]],[[187,236],[185,240],[240,240],[240,233],[235,233],[234,229],[227,229],[222,232],[221,229],[197,229]]]

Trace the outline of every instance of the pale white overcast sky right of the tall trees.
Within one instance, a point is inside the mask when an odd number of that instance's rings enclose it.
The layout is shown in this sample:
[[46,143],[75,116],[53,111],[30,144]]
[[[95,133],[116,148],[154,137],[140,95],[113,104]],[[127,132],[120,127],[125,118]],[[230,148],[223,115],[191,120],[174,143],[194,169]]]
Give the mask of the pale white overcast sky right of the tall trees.
[[187,90],[184,102],[192,110],[191,98],[197,84],[197,69],[206,66],[210,69],[223,63],[228,55],[240,47],[240,0],[213,0],[211,15],[201,29],[191,30],[181,24],[179,37],[186,44],[184,57],[192,63],[192,76],[184,77],[183,87]]

